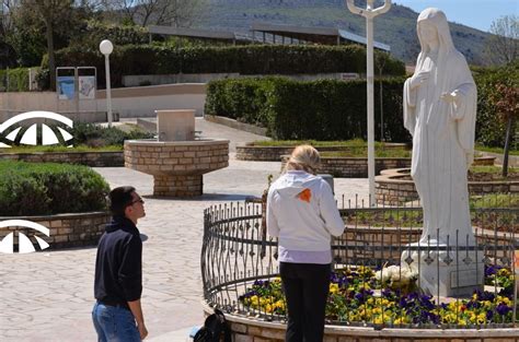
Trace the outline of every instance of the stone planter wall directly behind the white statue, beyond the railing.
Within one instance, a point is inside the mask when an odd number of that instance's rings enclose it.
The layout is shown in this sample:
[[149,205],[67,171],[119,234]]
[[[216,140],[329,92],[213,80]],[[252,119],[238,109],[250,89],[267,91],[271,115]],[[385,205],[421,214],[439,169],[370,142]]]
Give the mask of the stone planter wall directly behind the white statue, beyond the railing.
[[[415,184],[408,168],[384,169],[374,178],[377,202],[397,204],[417,200]],[[469,181],[472,194],[519,193],[519,180]]]

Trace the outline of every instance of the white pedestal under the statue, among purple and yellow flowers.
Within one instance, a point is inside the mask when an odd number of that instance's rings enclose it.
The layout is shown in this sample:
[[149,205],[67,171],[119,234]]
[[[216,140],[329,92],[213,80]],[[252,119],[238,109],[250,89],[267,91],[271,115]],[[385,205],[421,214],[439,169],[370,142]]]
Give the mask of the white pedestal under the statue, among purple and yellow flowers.
[[[475,290],[483,290],[485,270],[481,261],[482,252],[466,251],[462,246],[458,252],[452,247],[447,252],[446,247],[431,246],[429,250],[422,250],[419,258],[418,251],[412,251],[411,267],[419,272],[422,291],[440,297],[470,297]],[[408,252],[404,251],[403,264],[406,260],[410,260]]]

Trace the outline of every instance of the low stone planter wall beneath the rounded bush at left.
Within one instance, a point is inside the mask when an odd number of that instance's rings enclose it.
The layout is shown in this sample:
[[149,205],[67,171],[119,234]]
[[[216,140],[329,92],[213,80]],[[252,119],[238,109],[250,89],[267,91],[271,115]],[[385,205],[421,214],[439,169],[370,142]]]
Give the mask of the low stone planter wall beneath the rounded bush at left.
[[[39,223],[49,228],[50,236],[45,236],[34,229],[26,227],[7,227],[0,229],[0,240],[11,232],[21,232],[27,237],[37,233],[38,237],[49,244],[49,249],[60,249],[79,246],[95,246],[105,231],[105,224],[109,222],[107,212],[89,212],[74,214],[58,214],[46,216],[15,216],[0,217],[4,220],[27,220]],[[32,238],[33,243],[35,241]],[[18,245],[18,234],[14,234],[14,244]]]

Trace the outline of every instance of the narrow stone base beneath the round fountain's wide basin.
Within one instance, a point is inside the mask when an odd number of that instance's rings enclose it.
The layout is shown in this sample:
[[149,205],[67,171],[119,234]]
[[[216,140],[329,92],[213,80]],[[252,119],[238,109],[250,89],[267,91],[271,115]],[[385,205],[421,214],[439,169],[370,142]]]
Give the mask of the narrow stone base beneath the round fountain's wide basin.
[[153,176],[153,194],[160,197],[201,196],[203,176]]

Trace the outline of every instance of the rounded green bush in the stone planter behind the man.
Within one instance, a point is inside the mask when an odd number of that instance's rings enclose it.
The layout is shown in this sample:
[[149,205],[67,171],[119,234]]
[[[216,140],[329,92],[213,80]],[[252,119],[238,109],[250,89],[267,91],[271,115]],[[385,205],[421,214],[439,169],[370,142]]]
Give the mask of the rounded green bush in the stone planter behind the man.
[[108,191],[86,166],[0,162],[0,216],[106,210]]

